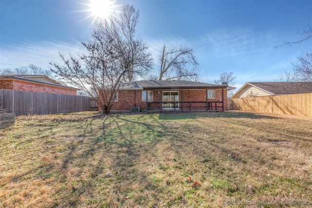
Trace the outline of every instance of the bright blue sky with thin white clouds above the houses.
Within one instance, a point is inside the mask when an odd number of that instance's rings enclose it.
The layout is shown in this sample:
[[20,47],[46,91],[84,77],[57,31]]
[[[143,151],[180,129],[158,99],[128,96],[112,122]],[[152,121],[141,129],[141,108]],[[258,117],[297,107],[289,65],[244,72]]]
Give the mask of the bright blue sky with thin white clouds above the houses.
[[[103,0],[104,1],[104,0]],[[292,46],[312,25],[312,0],[114,0],[139,10],[137,35],[157,59],[163,44],[194,50],[201,82],[233,72],[246,82],[275,81],[312,40]],[[0,0],[0,68],[49,69],[59,52],[83,51],[96,16],[91,0]],[[107,8],[100,8],[106,11]],[[157,63],[157,62],[156,62]],[[157,69],[157,64],[154,66]]]

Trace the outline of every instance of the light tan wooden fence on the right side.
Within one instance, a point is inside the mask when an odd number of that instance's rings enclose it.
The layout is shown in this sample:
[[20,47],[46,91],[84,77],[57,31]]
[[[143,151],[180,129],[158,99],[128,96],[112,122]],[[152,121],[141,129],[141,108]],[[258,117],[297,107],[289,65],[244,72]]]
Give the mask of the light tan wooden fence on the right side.
[[233,110],[312,117],[312,93],[234,98]]

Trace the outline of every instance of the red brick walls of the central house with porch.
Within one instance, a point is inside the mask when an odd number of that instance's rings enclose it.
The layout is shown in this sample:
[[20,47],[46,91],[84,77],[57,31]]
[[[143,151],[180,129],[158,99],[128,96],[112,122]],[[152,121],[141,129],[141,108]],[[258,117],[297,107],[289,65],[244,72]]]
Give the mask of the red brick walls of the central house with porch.
[[[170,91],[170,90],[163,90]],[[153,90],[153,102],[159,102],[159,96],[161,96],[162,101],[162,92],[159,93],[159,90]],[[174,91],[174,90],[173,90]],[[179,90],[179,101],[182,101],[182,91]],[[227,90],[223,92],[224,95],[224,110],[227,111]],[[189,101],[201,101],[206,102],[206,90],[183,90],[183,108],[185,111],[188,111]],[[212,101],[222,101],[222,90],[215,90],[215,98],[208,99],[208,102]],[[222,104],[218,103],[217,110],[222,110]],[[118,91],[118,101],[114,102],[112,110],[113,111],[130,111],[132,107],[140,107],[140,110],[146,109],[146,101],[142,101],[142,91],[141,90],[119,90]],[[154,109],[159,108],[159,104],[152,104],[151,107]],[[180,104],[181,107],[181,104]],[[206,110],[206,103],[192,103],[193,110]],[[100,109],[99,109],[100,110]],[[213,108],[215,110],[215,108]]]

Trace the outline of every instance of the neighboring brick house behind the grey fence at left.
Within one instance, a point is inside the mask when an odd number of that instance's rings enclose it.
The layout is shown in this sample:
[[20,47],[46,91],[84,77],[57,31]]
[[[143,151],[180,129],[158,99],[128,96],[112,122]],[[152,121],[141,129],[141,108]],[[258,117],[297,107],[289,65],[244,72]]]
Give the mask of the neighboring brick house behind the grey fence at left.
[[64,95],[77,95],[79,90],[44,75],[0,75],[0,89]]

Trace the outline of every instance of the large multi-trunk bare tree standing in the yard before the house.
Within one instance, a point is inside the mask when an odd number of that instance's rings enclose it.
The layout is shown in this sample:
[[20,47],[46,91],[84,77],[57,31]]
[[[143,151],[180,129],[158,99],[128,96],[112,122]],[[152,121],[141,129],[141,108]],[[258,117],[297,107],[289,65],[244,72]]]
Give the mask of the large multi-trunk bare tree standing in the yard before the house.
[[119,86],[150,70],[152,59],[146,44],[136,36],[138,12],[124,4],[119,16],[96,21],[91,39],[79,39],[87,53],[77,57],[59,53],[64,64],[55,61],[54,73],[72,86],[85,91],[105,112],[117,98]]

